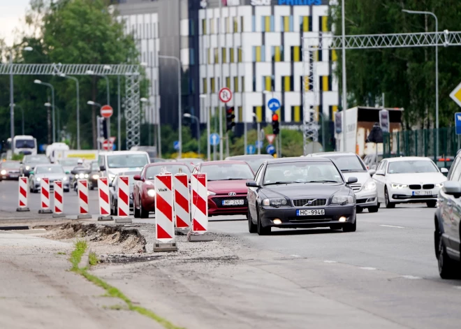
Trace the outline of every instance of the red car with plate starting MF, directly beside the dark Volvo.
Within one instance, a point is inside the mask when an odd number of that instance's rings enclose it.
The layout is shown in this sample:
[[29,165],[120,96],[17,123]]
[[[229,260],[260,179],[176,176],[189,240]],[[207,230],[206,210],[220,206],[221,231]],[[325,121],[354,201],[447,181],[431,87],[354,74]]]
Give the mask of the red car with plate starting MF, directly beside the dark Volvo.
[[248,214],[247,180],[254,173],[244,161],[207,161],[199,163],[194,173],[207,173],[208,215]]

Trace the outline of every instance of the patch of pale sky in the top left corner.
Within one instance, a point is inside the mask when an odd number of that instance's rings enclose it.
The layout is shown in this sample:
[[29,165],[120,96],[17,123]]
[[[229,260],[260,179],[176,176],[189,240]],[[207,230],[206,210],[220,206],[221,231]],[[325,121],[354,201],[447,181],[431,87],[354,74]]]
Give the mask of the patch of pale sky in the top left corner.
[[14,41],[13,30],[24,24],[29,0],[0,0],[0,38],[5,38],[6,45]]

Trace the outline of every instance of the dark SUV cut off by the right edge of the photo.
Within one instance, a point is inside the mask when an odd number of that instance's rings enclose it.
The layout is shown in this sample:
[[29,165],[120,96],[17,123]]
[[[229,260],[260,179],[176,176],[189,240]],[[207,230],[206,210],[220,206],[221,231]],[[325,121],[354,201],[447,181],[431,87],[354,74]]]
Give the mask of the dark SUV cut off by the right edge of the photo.
[[456,156],[439,191],[435,212],[434,249],[442,279],[461,276],[461,155]]

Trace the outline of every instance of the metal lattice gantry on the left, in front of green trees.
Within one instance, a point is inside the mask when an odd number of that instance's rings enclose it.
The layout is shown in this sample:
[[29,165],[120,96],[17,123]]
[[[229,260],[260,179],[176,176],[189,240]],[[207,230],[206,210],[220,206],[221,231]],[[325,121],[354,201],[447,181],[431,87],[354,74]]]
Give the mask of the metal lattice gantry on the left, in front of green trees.
[[[108,69],[110,67],[110,69]],[[140,143],[140,66],[136,64],[0,64],[0,75],[112,75],[126,78],[126,148]]]

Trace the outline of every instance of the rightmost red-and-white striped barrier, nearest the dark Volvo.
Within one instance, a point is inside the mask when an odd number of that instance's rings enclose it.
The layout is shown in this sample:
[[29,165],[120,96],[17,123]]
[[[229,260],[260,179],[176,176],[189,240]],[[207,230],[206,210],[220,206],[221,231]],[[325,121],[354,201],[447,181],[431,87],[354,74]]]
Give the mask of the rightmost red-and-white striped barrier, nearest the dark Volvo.
[[192,189],[192,232],[205,233],[208,231],[208,187],[207,174],[197,173],[191,176]]

